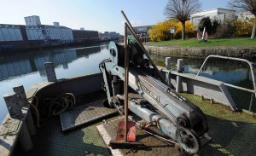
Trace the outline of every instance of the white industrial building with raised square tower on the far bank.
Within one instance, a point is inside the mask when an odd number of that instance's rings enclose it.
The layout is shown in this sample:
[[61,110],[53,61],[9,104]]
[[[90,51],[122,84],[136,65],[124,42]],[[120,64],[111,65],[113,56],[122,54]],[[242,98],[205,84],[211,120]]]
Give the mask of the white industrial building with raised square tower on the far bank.
[[59,43],[73,42],[72,29],[60,26],[59,22],[54,22],[53,26],[41,25],[40,18],[36,15],[25,17],[26,34],[28,40],[55,40]]

